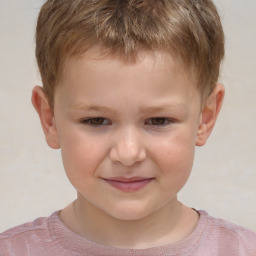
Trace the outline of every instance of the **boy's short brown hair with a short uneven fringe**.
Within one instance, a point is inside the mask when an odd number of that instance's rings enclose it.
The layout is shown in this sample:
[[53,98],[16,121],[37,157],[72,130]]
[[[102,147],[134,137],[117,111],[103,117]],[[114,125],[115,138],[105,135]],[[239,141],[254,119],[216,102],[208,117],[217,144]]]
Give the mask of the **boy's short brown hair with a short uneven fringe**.
[[36,29],[36,58],[53,106],[67,57],[94,45],[123,58],[164,49],[193,70],[204,96],[215,87],[224,34],[211,0],[48,0]]

